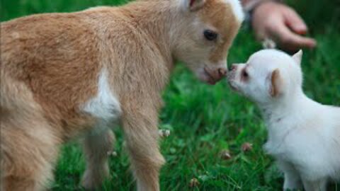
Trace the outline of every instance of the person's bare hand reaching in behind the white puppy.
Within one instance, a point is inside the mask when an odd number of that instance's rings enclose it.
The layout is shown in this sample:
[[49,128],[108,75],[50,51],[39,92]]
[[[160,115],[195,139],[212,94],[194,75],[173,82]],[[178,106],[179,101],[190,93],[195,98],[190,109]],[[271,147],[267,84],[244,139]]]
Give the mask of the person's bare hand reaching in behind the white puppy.
[[268,1],[254,9],[251,24],[259,40],[269,38],[287,51],[313,48],[317,42],[307,33],[307,26],[299,15],[284,4]]

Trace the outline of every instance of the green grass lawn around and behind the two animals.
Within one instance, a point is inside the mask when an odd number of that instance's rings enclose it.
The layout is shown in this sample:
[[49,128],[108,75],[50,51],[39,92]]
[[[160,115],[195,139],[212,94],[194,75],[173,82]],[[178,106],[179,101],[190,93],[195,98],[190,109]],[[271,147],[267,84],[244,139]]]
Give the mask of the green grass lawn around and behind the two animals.
[[[42,12],[79,11],[96,5],[123,4],[114,0],[2,0],[1,20]],[[306,4],[308,6],[306,6]],[[317,38],[315,50],[305,50],[305,92],[320,103],[340,105],[340,6],[337,1],[291,1]],[[243,28],[229,52],[229,63],[244,62],[261,47],[251,31]],[[283,175],[273,159],[263,153],[266,129],[259,110],[232,93],[225,82],[216,86],[200,83],[182,65],[176,66],[164,91],[166,106],[160,128],[171,129],[161,141],[166,165],[162,168],[162,190],[280,190]],[[118,156],[110,158],[111,180],[102,190],[135,190],[129,161],[123,150],[123,133],[115,129]],[[241,151],[244,142],[254,149]],[[220,158],[229,150],[230,160]],[[64,146],[55,168],[52,190],[81,190],[79,179],[84,159],[76,141]],[[189,187],[197,178],[198,187]],[[331,185],[329,190],[340,190]]]

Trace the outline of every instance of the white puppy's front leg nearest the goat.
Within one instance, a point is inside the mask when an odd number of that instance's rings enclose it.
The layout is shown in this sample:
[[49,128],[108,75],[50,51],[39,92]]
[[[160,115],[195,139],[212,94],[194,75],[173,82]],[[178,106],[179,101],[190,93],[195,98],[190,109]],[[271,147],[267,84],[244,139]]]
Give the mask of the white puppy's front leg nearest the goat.
[[302,180],[300,174],[295,170],[294,166],[285,161],[278,161],[278,166],[285,174],[285,182],[283,190],[298,190],[302,188]]

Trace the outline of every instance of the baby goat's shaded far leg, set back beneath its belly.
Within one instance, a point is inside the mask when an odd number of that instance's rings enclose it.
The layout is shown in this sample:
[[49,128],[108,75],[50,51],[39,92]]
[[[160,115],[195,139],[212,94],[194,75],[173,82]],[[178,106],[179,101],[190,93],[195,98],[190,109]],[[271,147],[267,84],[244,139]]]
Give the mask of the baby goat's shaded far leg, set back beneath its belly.
[[86,189],[95,189],[101,186],[103,180],[109,176],[108,153],[113,150],[115,140],[111,129],[87,134],[83,141],[86,157],[86,171],[81,185]]

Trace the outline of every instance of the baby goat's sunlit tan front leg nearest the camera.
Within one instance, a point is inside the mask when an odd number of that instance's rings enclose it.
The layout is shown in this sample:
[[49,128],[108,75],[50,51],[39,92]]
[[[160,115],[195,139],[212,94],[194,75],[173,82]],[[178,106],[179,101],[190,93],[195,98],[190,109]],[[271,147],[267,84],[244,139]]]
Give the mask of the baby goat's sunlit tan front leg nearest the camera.
[[159,190],[159,169],[164,158],[159,152],[157,119],[154,110],[123,115],[126,146],[139,191]]

